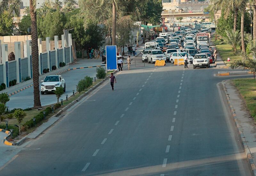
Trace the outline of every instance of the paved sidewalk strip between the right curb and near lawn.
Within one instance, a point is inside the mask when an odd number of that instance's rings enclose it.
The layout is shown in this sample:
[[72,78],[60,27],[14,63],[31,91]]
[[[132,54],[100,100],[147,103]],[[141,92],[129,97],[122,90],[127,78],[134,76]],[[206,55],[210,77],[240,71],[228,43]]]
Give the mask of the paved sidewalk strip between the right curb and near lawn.
[[243,98],[240,96],[231,80],[222,82],[229,108],[233,114],[236,127],[240,133],[240,141],[244,147],[245,155],[252,169],[252,175],[256,175],[256,125],[246,108]]

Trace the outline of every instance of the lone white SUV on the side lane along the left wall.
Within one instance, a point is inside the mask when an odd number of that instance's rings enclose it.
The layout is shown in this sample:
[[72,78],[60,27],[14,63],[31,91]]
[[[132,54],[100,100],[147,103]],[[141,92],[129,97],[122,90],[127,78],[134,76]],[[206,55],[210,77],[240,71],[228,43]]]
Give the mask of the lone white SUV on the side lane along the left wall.
[[56,87],[63,87],[66,92],[66,83],[61,75],[49,75],[41,81],[41,94],[56,91]]

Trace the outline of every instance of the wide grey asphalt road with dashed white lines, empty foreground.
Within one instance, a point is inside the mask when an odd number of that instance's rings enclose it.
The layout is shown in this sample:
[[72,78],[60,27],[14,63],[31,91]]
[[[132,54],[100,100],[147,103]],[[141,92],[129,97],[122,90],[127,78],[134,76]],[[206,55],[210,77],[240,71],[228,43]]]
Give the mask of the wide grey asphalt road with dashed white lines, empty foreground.
[[234,76],[145,65],[69,108],[0,175],[250,175],[216,86]]

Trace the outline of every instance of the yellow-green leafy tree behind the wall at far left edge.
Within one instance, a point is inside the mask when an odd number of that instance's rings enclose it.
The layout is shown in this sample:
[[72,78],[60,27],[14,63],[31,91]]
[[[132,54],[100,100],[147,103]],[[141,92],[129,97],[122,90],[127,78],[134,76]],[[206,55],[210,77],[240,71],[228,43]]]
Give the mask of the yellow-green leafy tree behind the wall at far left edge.
[[12,17],[8,12],[0,13],[0,36],[9,36],[12,34],[14,24]]

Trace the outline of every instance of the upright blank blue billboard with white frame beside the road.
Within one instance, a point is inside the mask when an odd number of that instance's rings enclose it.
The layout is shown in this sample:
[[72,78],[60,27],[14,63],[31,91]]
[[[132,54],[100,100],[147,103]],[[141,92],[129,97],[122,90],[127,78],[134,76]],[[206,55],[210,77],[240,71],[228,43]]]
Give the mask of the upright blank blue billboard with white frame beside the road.
[[117,70],[116,45],[106,46],[107,70]]

